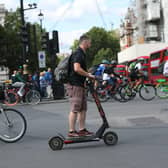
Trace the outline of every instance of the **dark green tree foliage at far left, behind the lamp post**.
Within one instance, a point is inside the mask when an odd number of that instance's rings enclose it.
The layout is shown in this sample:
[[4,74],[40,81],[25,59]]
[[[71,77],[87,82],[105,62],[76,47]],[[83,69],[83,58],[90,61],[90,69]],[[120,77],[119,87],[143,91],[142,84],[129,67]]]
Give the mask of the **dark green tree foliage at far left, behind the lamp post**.
[[[26,58],[32,71],[38,67],[37,51],[40,49],[41,36],[40,25],[35,24],[35,27],[36,42],[34,41],[33,25],[30,24],[30,50]],[[15,12],[8,12],[5,16],[4,27],[0,26],[0,64],[7,66],[11,71],[22,64],[23,49],[20,33],[21,17],[20,10],[17,9]]]

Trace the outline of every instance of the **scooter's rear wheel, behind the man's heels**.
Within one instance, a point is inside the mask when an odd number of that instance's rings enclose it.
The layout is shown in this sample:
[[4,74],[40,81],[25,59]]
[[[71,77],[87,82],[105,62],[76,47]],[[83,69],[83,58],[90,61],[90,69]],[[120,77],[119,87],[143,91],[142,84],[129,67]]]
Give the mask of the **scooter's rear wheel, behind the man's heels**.
[[64,141],[61,137],[56,136],[56,137],[52,137],[48,141],[48,144],[52,150],[61,150],[63,148]]

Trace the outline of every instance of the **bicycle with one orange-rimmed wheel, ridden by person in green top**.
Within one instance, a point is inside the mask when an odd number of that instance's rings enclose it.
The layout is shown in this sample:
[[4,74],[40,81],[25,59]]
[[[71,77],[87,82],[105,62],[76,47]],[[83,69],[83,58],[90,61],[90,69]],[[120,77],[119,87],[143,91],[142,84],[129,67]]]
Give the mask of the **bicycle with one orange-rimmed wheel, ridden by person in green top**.
[[39,91],[33,88],[32,83],[26,83],[23,90],[23,96],[19,96],[17,94],[19,88],[13,87],[11,84],[5,86],[4,94],[5,94],[5,101],[4,103],[8,106],[14,106],[17,103],[26,102],[31,105],[38,104],[41,101],[41,95]]

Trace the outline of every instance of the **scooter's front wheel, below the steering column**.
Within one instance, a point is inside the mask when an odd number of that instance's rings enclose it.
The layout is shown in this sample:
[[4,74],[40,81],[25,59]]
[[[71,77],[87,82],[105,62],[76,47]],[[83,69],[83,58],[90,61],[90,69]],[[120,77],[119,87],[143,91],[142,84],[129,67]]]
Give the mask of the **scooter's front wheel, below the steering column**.
[[116,145],[118,142],[118,136],[115,132],[106,132],[103,136],[104,143],[106,145]]

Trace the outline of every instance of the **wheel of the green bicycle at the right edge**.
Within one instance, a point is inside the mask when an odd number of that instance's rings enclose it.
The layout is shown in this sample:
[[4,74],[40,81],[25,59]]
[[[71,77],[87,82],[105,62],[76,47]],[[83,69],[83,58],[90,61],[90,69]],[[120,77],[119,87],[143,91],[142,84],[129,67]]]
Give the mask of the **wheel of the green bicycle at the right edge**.
[[164,85],[157,86],[156,95],[161,99],[167,98],[168,97],[168,86],[164,86]]

